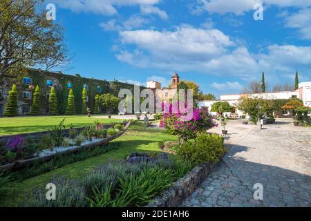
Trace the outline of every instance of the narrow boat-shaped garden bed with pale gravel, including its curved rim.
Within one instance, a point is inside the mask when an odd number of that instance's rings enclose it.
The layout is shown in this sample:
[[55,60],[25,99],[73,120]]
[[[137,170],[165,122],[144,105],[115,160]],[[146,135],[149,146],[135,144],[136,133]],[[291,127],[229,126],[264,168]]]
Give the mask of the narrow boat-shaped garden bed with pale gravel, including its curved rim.
[[[27,160],[18,160],[16,162],[12,162],[10,164],[2,165],[2,166],[0,166],[0,171],[1,170],[10,171],[12,169],[21,169],[25,166],[30,166],[30,165],[34,164],[35,162],[46,162],[48,160],[53,159],[57,155],[68,155],[71,153],[76,153],[77,151],[80,151],[82,149],[93,148],[95,146],[100,146],[102,144],[106,144],[108,142],[111,142],[112,140],[115,140],[117,137],[120,137],[127,130],[127,128],[129,128],[130,124],[131,124],[131,122],[125,122],[124,123],[124,125],[125,125],[124,129],[122,131],[120,131],[120,133],[117,133],[111,137],[106,137],[103,139],[97,139],[96,138],[92,141],[82,142],[82,144],[79,146],[68,146],[68,147],[58,146],[58,147],[53,148],[53,150],[46,149],[44,151],[41,151],[39,153],[39,156],[37,156],[37,157],[32,157],[32,158],[27,159]],[[109,125],[109,126],[113,126],[113,125]],[[105,126],[105,128],[108,128],[109,126]],[[49,133],[49,132],[47,132],[47,133]]]

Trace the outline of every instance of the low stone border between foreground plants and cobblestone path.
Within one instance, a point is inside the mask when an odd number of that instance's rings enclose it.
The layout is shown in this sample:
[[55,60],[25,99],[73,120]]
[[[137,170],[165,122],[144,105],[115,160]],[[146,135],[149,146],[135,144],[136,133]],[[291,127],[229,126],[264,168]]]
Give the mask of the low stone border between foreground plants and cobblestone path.
[[[219,162],[223,157],[220,157]],[[219,163],[218,162],[218,163]],[[200,164],[192,169],[187,175],[177,180],[174,186],[158,195],[153,202],[145,207],[177,207],[188,198],[195,189],[209,176],[217,163]]]

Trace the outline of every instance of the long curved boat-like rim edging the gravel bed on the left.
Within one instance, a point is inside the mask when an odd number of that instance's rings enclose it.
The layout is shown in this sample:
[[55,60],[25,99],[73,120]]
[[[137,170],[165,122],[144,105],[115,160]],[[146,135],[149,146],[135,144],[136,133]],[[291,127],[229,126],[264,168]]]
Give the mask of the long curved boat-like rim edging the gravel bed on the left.
[[[84,149],[93,148],[95,146],[100,146],[100,145],[109,143],[112,140],[115,140],[118,137],[120,137],[123,133],[125,133],[125,131],[129,128],[129,126],[131,124],[131,121],[125,122],[123,124],[125,124],[124,130],[121,131],[120,133],[117,133],[116,135],[113,135],[112,137],[107,137],[107,138],[105,138],[103,140],[100,140],[98,142],[84,144],[84,145],[81,145],[81,146],[77,146],[75,148],[67,149],[67,150],[64,150],[64,151],[59,151],[57,153],[53,153],[53,154],[50,154],[50,155],[45,155],[45,156],[41,156],[41,157],[34,157],[34,158],[31,158],[31,159],[28,159],[28,160],[19,160],[19,161],[14,162],[14,163],[2,165],[2,166],[0,166],[0,171],[3,171],[3,170],[10,171],[12,169],[21,169],[21,168],[23,168],[25,166],[32,165],[35,162],[46,162],[48,160],[51,160],[56,155],[68,155],[70,153],[75,153],[75,152],[81,150],[82,148],[84,148]],[[106,125],[106,126],[113,126],[113,125],[115,125],[115,124],[110,124],[110,125]],[[44,132],[39,132],[39,133],[44,133]]]

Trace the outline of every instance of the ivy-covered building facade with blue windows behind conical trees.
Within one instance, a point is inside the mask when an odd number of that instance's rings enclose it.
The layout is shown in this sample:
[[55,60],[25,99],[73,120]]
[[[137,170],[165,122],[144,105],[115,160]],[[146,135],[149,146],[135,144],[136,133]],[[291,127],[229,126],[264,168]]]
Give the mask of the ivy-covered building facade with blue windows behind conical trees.
[[119,81],[89,79],[80,75],[65,75],[37,69],[21,70],[18,73],[6,73],[0,79],[0,115],[3,115],[8,93],[12,85],[17,85],[19,115],[29,115],[32,106],[32,95],[35,86],[40,88],[40,115],[48,114],[48,99],[50,88],[55,88],[59,114],[66,112],[68,91],[73,90],[75,95],[75,112],[82,113],[82,90],[87,90],[87,106],[93,111],[95,96],[104,93],[118,95],[120,89],[127,88],[133,91],[132,84]]

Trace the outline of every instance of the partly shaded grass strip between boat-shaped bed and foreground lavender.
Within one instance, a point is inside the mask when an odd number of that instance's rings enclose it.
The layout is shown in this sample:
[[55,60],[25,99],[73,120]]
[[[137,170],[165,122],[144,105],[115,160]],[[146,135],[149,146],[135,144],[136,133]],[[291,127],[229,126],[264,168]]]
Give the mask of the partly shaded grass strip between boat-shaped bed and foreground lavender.
[[[46,184],[55,177],[68,177],[79,179],[94,166],[106,164],[110,160],[124,159],[133,152],[154,153],[160,152],[159,142],[176,140],[176,137],[167,135],[164,131],[156,128],[144,128],[142,123],[138,123],[129,128],[124,135],[111,142],[115,148],[113,150],[88,158],[80,162],[68,164],[62,168],[32,177],[22,182],[10,184],[10,191],[4,196],[0,206],[20,206],[24,193],[30,192],[33,188],[45,188]],[[170,156],[173,159],[176,156]]]

